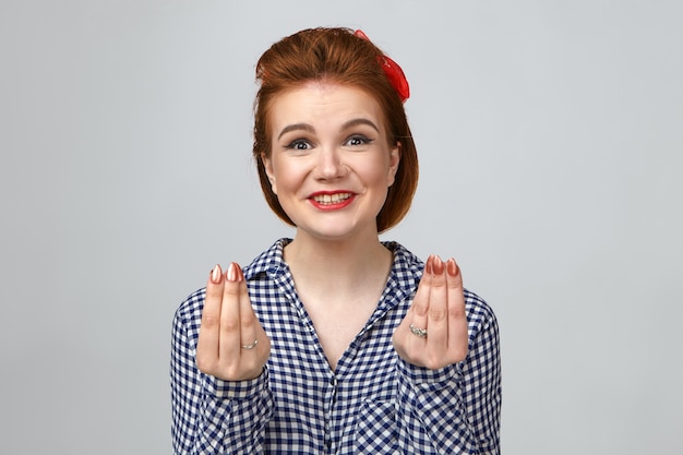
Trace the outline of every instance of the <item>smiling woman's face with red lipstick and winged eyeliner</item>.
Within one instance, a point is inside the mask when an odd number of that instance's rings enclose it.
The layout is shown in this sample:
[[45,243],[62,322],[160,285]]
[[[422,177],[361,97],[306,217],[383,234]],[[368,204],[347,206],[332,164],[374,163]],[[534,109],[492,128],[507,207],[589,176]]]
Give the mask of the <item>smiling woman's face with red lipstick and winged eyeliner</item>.
[[276,97],[268,116],[273,145],[265,169],[298,235],[376,237],[375,217],[400,153],[399,144],[388,144],[374,98],[315,82]]

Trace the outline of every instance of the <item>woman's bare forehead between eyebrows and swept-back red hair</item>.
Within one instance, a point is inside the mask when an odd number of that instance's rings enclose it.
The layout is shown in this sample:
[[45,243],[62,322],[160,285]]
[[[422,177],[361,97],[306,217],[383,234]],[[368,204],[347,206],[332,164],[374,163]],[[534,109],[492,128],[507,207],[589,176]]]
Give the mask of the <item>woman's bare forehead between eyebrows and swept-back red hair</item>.
[[329,82],[309,82],[283,92],[273,98],[268,109],[272,133],[291,123],[322,128],[358,118],[372,120],[381,129],[385,125],[385,116],[374,96],[356,86]]

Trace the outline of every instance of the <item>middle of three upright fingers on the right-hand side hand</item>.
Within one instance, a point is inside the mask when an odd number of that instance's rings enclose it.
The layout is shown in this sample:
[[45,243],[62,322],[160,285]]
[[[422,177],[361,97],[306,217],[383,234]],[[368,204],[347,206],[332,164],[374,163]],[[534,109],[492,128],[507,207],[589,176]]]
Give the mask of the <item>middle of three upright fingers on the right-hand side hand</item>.
[[427,320],[429,327],[428,345],[435,356],[441,356],[448,346],[448,301],[445,268],[441,258],[435,256],[432,265],[433,278]]

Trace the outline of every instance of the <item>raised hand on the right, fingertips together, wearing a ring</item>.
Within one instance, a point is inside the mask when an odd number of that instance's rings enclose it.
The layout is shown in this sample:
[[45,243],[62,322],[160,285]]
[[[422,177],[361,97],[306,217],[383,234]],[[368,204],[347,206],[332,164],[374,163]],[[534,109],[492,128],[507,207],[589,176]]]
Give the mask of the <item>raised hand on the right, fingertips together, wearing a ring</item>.
[[455,260],[430,255],[406,318],[394,332],[394,349],[407,362],[431,370],[465,360],[467,318],[463,277]]

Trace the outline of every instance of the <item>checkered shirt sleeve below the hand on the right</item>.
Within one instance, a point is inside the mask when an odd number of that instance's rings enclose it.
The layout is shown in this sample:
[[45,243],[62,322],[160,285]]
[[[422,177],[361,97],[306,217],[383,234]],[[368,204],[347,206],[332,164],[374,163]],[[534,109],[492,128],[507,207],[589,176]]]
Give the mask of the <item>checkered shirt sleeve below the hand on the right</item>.
[[398,358],[397,370],[398,439],[405,452],[500,454],[500,340],[492,312],[475,327],[470,323],[463,362],[429,370]]

